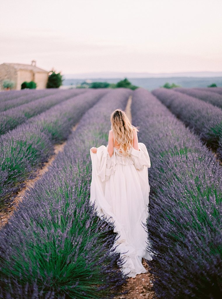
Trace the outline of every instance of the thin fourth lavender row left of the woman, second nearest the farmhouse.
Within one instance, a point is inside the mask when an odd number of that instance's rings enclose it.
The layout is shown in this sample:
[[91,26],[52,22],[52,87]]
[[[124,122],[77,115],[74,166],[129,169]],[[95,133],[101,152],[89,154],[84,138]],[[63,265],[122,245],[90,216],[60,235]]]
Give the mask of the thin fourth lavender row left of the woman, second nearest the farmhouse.
[[46,97],[48,95],[55,94],[57,92],[58,92],[58,90],[55,90],[55,89],[53,89],[53,90],[41,89],[41,90],[38,90],[31,94],[29,93],[29,94],[25,94],[25,95],[16,97],[15,99],[6,100],[4,102],[0,101],[0,111],[6,111],[10,108],[17,107],[22,104],[32,102],[36,99],[39,99],[40,97]]

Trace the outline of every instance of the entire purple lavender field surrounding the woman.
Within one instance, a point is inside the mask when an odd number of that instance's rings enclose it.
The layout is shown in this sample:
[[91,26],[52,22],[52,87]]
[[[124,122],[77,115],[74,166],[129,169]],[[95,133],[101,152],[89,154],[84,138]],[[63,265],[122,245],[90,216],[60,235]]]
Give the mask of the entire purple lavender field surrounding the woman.
[[127,277],[118,271],[120,257],[109,254],[113,226],[89,204],[89,150],[108,144],[110,114],[125,110],[131,95],[132,123],[151,159],[144,229],[157,253],[148,261],[155,296],[221,298],[222,109],[215,90],[0,93],[1,213],[66,142],[0,228],[0,298],[121,296]]

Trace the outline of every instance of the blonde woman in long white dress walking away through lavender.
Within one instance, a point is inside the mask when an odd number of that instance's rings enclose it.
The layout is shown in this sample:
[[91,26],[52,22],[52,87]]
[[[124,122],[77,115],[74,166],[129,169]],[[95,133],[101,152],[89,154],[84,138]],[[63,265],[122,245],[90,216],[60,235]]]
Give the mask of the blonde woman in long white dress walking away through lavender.
[[152,260],[152,253],[146,250],[148,236],[142,224],[146,224],[149,216],[148,167],[151,164],[145,144],[138,143],[138,129],[125,112],[116,109],[110,120],[107,147],[90,149],[90,203],[95,202],[100,218],[105,216],[107,222],[114,222],[117,236],[112,249],[123,258],[123,263],[118,263],[120,270],[135,277],[147,272],[142,257]]

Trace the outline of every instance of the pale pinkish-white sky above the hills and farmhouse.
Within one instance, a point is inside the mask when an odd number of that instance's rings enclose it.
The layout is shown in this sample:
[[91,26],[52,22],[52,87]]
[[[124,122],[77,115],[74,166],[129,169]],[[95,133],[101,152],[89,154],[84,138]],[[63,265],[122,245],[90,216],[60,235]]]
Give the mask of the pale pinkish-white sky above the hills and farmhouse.
[[62,74],[222,71],[221,0],[2,0],[0,64]]

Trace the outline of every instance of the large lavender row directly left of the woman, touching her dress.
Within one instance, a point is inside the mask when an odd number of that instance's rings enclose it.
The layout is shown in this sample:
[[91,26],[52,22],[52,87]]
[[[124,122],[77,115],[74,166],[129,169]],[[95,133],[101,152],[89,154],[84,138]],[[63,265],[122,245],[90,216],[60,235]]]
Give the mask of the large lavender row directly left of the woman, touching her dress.
[[111,298],[125,282],[111,227],[89,204],[89,149],[108,143],[110,114],[129,94],[111,90],[85,113],[0,231],[0,298]]

